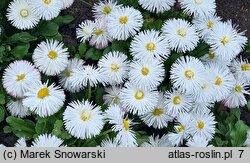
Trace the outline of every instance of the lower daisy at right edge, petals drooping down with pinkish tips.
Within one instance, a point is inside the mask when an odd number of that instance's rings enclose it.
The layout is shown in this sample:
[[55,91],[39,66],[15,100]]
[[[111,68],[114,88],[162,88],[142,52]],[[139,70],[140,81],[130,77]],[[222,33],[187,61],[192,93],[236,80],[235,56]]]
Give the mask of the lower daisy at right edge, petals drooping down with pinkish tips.
[[247,104],[245,95],[250,95],[248,88],[249,83],[242,80],[237,80],[229,96],[223,100],[223,103],[228,108],[243,107]]

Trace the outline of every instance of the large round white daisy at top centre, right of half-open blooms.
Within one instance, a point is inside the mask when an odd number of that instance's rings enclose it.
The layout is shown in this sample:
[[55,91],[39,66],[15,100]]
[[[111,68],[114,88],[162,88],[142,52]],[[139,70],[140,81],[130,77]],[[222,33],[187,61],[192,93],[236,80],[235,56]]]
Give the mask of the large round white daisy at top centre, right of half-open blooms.
[[107,17],[108,33],[117,40],[127,40],[134,36],[142,24],[143,17],[140,11],[132,7],[118,8]]

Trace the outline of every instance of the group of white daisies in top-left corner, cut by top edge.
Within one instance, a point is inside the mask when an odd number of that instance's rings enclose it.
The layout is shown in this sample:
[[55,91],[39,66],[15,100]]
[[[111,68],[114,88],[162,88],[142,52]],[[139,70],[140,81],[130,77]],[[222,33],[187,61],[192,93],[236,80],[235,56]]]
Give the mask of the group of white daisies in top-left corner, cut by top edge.
[[62,9],[74,0],[13,0],[7,9],[7,18],[13,26],[26,30],[34,28],[42,20],[56,18]]

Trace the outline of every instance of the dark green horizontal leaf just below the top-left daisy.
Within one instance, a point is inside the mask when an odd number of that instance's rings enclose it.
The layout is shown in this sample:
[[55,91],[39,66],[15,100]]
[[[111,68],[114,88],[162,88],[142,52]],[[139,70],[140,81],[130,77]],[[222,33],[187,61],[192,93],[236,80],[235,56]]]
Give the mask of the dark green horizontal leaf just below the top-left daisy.
[[35,40],[37,40],[37,37],[32,36],[28,32],[21,32],[21,33],[16,33],[16,34],[12,35],[11,37],[9,37],[7,39],[7,42],[15,43],[15,42],[20,41],[23,43],[29,43],[29,42],[35,41]]

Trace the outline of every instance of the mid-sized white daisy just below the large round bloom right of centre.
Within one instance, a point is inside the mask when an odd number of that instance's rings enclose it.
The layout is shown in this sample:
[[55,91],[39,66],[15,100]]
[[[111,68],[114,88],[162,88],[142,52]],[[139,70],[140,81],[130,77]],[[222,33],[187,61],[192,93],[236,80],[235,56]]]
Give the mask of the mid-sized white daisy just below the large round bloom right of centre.
[[167,108],[166,113],[175,117],[179,113],[186,113],[192,110],[193,98],[177,90],[167,91],[164,105]]

